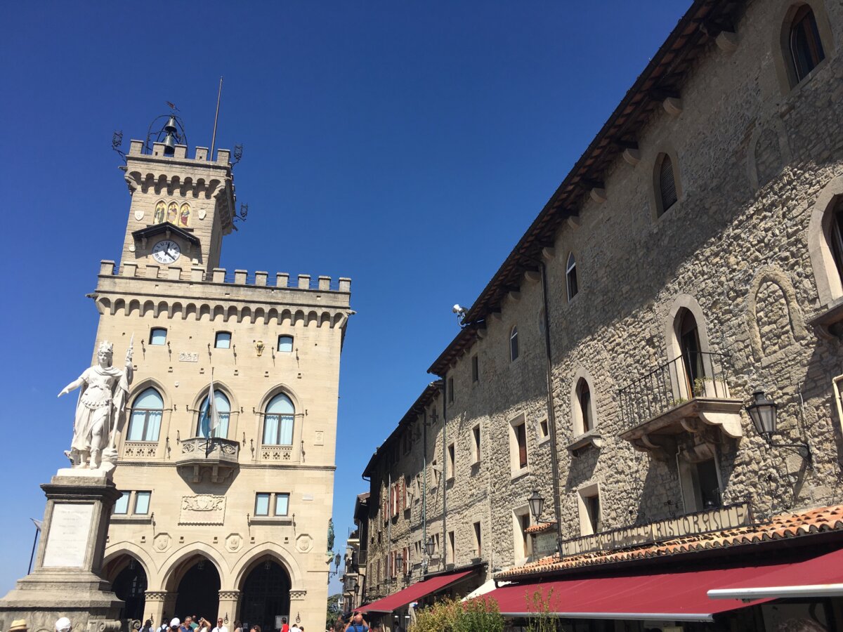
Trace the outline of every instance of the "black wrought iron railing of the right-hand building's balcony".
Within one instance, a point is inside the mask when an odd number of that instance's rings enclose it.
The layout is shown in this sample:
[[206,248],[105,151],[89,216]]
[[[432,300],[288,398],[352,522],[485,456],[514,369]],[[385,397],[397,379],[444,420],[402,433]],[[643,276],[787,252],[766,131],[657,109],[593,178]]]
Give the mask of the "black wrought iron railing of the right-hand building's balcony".
[[690,351],[618,391],[623,429],[629,430],[692,399],[729,399],[728,356]]

